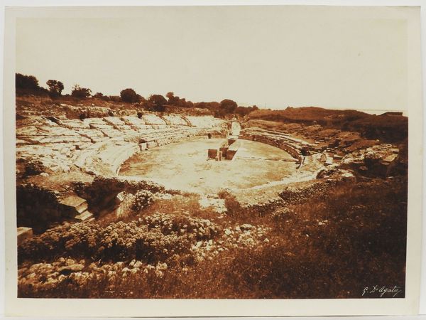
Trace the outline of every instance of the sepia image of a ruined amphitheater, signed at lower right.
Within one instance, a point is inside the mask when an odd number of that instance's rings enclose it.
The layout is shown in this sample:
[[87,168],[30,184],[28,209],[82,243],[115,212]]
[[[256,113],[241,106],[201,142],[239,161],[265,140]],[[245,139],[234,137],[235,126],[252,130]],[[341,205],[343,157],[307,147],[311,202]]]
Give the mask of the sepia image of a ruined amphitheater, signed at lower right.
[[419,10],[45,10],[13,20],[16,298],[418,290]]

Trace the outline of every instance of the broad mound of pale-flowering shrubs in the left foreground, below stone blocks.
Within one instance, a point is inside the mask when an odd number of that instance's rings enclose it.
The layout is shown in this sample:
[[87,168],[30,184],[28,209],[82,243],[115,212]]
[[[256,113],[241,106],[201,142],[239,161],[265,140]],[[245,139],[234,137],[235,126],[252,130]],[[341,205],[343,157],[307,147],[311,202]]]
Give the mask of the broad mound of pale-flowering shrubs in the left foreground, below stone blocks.
[[104,261],[143,259],[175,260],[176,254],[192,254],[196,240],[209,240],[222,229],[201,218],[156,213],[139,222],[64,223],[35,235],[18,247],[20,262],[70,256]]

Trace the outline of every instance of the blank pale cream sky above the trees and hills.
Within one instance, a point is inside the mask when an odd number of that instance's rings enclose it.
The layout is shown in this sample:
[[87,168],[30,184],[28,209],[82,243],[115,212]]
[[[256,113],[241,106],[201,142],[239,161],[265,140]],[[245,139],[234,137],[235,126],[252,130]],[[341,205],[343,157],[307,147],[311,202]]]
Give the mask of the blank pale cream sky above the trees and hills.
[[[407,109],[403,19],[285,6],[151,7],[129,18],[21,18],[16,72],[192,102]],[[138,14],[135,15],[134,11]],[[347,13],[347,14],[346,14]]]

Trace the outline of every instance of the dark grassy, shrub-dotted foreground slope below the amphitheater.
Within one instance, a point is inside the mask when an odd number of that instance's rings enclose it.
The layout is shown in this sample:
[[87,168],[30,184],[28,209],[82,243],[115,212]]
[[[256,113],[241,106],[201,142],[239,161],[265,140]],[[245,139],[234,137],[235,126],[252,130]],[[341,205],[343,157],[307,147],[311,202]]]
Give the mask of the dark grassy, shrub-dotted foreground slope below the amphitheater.
[[[119,223],[62,226],[24,242],[18,296],[360,298],[365,287],[398,286],[404,297],[404,178],[333,184],[262,216],[221,196],[222,215],[196,196],[173,196]],[[70,273],[67,260],[80,270]],[[65,267],[39,277],[55,265]]]

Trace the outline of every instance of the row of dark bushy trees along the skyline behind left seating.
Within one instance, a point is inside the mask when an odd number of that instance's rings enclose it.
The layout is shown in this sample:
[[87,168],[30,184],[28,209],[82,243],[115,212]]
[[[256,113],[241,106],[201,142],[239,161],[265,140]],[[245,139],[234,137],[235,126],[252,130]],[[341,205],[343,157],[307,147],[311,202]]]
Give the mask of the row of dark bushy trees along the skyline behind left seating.
[[44,95],[52,99],[60,97],[73,97],[77,100],[96,98],[104,101],[111,102],[126,102],[134,104],[137,107],[143,107],[149,111],[164,112],[169,107],[182,107],[182,108],[202,108],[211,110],[215,117],[226,117],[229,114],[239,114],[244,117],[246,114],[254,110],[258,110],[256,105],[251,107],[241,107],[237,105],[234,100],[224,99],[221,102],[192,102],[186,100],[184,97],[178,97],[174,92],[168,92],[165,97],[163,95],[150,95],[148,99],[136,93],[131,88],[121,90],[120,95],[104,95],[102,92],[96,92],[92,95],[92,90],[80,85],[74,85],[70,95],[62,95],[64,85],[58,80],[48,80],[45,87],[40,87],[38,79],[33,75],[22,75],[16,73],[15,78],[16,95]]

